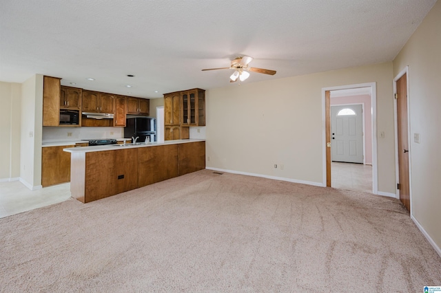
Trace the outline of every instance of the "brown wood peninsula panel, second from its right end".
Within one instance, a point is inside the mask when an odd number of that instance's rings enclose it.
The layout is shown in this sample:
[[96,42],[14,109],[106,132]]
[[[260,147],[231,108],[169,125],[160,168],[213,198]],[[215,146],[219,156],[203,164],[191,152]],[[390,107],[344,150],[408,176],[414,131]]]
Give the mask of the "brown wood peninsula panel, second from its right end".
[[178,176],[178,145],[139,148],[138,185],[146,186]]

